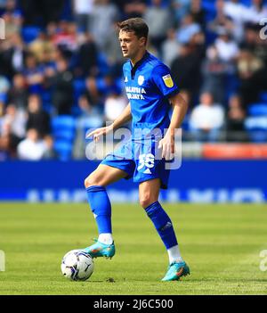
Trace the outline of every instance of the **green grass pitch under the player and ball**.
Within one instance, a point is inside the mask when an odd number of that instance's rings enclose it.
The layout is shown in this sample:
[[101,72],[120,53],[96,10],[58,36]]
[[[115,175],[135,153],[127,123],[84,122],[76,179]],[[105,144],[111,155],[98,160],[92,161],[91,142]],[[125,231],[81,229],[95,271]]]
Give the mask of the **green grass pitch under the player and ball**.
[[[97,236],[86,204],[0,204],[0,294],[267,294],[266,205],[165,204],[191,275],[161,282],[167,254],[137,204],[113,205],[117,253],[96,259],[93,276],[71,282],[61,258]],[[267,262],[266,262],[267,263]],[[266,264],[267,265],[267,264]]]

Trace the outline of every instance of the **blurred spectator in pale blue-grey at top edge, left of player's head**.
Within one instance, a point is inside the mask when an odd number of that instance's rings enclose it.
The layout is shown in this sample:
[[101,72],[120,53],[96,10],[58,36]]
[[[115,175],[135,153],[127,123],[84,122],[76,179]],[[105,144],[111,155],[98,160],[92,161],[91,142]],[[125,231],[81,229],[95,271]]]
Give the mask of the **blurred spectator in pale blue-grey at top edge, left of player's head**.
[[115,4],[109,0],[95,0],[89,31],[91,30],[95,42],[101,50],[112,33],[111,25],[118,20],[119,12]]

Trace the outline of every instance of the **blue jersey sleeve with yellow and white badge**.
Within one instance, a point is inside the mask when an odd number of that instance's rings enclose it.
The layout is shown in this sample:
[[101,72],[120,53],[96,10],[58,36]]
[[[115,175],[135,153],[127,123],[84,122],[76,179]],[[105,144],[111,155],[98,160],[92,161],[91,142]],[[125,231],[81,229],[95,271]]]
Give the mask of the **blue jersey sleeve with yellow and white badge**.
[[175,84],[172,78],[171,71],[164,65],[158,65],[152,71],[152,79],[162,95],[170,97],[180,92],[178,86]]

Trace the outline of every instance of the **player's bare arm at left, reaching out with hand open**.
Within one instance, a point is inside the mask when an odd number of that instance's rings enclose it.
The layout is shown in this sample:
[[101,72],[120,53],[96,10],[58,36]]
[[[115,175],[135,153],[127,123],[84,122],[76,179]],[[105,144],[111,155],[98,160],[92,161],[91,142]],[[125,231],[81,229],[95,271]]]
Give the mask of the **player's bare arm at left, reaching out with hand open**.
[[94,142],[97,143],[99,141],[100,136],[107,135],[112,130],[120,128],[131,119],[132,119],[131,106],[130,103],[128,103],[128,105],[125,107],[125,110],[117,117],[117,119],[114,120],[114,122],[111,125],[106,126],[104,128],[97,128],[93,130],[86,136],[86,138],[93,136]]

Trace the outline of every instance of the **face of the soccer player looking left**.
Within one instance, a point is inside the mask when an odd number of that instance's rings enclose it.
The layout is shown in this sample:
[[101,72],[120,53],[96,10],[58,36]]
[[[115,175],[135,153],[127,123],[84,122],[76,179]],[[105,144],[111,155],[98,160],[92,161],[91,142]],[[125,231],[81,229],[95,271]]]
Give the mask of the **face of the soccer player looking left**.
[[138,38],[134,32],[120,31],[118,40],[125,58],[134,59],[145,46],[145,38]]

